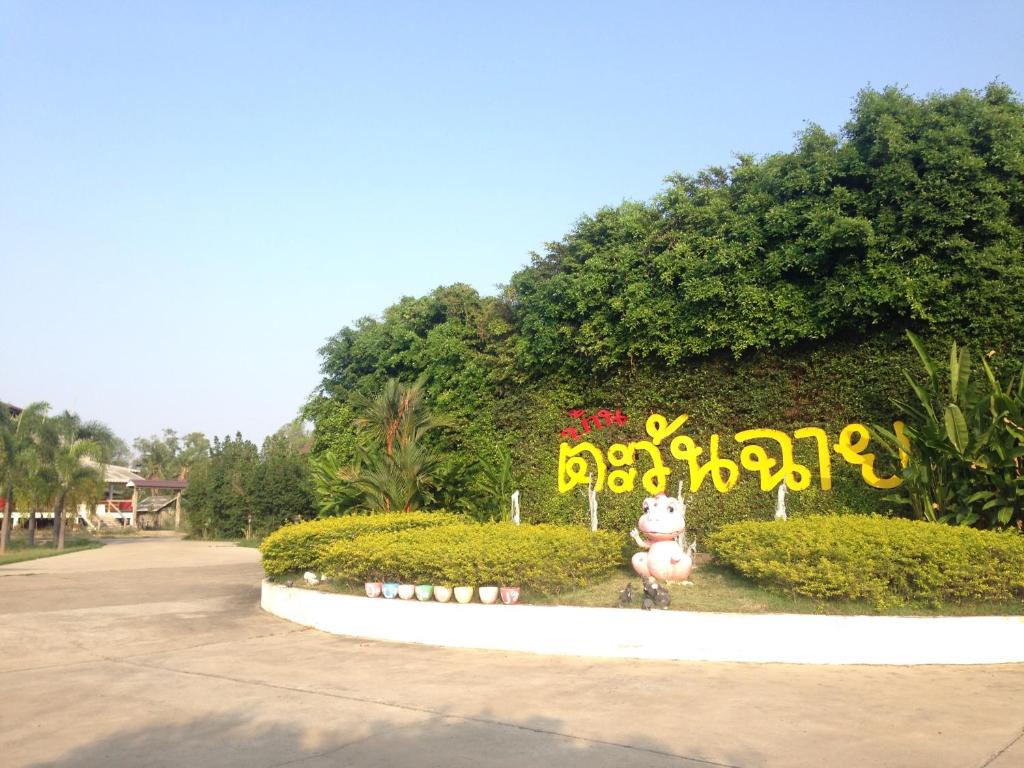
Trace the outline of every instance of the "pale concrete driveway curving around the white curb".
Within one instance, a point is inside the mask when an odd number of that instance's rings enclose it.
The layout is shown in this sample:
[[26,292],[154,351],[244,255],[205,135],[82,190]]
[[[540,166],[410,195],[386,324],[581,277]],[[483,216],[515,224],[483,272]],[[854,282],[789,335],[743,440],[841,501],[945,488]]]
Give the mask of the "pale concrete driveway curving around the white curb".
[[259,578],[167,540],[0,567],[0,765],[1024,766],[1024,666],[389,645],[262,613]]

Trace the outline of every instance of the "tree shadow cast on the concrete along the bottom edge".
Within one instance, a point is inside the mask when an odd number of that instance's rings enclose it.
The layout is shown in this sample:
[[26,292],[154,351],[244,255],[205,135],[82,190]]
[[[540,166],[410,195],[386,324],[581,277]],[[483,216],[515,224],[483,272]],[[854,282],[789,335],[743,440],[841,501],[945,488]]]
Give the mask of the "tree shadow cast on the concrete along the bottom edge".
[[[328,709],[330,709],[328,707]],[[686,758],[656,739],[640,736],[631,745],[562,735],[561,723],[535,718],[516,724],[403,711],[395,721],[369,721],[332,728],[330,717],[310,723],[255,722],[242,713],[197,718],[187,723],[108,735],[33,768],[102,766],[750,766],[752,755],[728,760]],[[642,720],[642,717],[639,719]]]

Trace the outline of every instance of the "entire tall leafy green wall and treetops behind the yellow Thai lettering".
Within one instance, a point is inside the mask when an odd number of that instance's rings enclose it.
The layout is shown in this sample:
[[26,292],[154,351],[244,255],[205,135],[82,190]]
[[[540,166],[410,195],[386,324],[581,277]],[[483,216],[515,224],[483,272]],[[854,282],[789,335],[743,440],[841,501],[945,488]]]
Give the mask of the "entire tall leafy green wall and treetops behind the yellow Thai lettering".
[[[793,152],[675,175],[650,202],[585,216],[498,297],[440,288],[343,329],[307,406],[314,452],[350,461],[354,393],[422,378],[463,470],[439,483],[443,504],[474,499],[469,468],[496,474],[507,451],[524,520],[583,521],[585,497],[555,485],[570,409],[629,415],[602,445],[641,436],[649,413],[688,413],[688,433],[721,433],[732,457],[736,429],[835,438],[851,421],[891,424],[908,396],[894,375],[912,359],[906,329],[933,350],[997,349],[996,373],[1019,365],[1022,254],[1019,97],[998,84],[923,99],[866,90],[838,134],[811,126]],[[834,471],[833,490],[793,494],[791,508],[889,507],[850,466]],[[601,525],[632,527],[643,495],[601,494]],[[688,519],[702,536],[773,506],[749,482],[727,495],[706,483]]]

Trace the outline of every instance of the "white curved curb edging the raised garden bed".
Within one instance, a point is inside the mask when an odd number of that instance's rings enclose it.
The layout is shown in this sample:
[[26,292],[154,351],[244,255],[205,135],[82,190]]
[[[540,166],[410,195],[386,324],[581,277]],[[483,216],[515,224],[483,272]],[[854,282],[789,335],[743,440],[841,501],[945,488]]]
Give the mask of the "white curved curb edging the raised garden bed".
[[385,600],[263,582],[264,610],[335,635],[454,648],[691,662],[1024,662],[1022,616],[696,613]]

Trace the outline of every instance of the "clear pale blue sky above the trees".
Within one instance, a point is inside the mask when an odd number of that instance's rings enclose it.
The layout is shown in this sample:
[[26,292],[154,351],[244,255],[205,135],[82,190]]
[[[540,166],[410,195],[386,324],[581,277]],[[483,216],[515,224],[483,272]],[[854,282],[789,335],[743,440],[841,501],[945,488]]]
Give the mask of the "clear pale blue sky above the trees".
[[864,86],[1024,91],[1022,40],[1016,1],[0,0],[0,399],[259,441],[359,316]]

